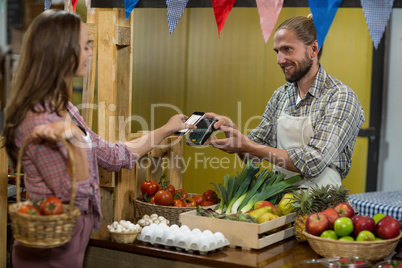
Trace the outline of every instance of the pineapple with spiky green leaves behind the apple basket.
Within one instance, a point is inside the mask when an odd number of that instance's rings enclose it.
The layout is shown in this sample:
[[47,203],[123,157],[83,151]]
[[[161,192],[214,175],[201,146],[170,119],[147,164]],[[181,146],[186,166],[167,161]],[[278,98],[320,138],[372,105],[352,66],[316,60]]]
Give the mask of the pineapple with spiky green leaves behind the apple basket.
[[293,206],[295,207],[296,220],[294,223],[295,236],[297,241],[305,242],[306,236],[303,230],[306,220],[310,214],[323,211],[329,207],[346,202],[348,191],[344,186],[318,185],[310,187],[308,190],[293,192]]

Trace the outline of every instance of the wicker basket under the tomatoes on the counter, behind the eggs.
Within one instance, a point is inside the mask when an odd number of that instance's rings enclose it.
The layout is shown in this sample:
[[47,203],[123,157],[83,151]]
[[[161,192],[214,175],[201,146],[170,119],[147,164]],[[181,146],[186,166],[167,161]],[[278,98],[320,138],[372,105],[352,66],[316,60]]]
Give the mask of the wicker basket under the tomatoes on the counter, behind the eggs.
[[[191,197],[193,195],[194,194],[188,194],[189,197]],[[158,214],[158,216],[165,217],[165,219],[169,220],[170,224],[177,224],[179,226],[181,225],[181,223],[179,221],[180,214],[196,209],[195,207],[172,207],[172,206],[153,205],[153,204],[149,204],[149,203],[138,200],[138,197],[134,200],[134,204],[139,210],[140,217],[142,217],[144,215],[152,215],[155,213],[155,214]],[[215,209],[215,208],[217,208],[217,206],[218,206],[218,204],[214,204],[212,206],[207,206],[204,208]]]

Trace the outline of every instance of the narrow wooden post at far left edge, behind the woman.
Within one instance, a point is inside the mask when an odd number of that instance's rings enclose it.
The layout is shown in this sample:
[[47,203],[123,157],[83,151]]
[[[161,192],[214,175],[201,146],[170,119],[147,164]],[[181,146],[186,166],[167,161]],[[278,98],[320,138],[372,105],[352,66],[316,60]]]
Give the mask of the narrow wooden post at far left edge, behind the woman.
[[[0,144],[3,141],[0,139]],[[0,267],[7,263],[7,203],[8,203],[8,156],[0,149]]]

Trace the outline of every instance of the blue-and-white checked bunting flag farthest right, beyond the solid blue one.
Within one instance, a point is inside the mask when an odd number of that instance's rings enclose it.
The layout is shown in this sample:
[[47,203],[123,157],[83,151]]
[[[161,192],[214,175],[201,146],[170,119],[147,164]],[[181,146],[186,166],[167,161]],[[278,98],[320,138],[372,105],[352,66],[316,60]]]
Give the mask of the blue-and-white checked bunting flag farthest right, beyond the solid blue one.
[[374,48],[377,49],[391,15],[394,0],[360,0]]

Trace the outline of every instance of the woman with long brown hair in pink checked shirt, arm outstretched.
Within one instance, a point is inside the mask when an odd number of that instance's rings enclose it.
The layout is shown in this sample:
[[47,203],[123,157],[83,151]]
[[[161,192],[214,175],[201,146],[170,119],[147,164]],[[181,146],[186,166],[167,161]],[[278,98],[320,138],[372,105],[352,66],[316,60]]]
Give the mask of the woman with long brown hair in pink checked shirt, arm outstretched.
[[126,143],[109,143],[94,133],[69,101],[74,77],[86,74],[92,55],[88,31],[78,15],[48,10],[28,28],[7,103],[4,144],[15,163],[19,148],[30,136],[22,165],[30,199],[56,196],[68,203],[71,167],[58,137],[68,139],[76,159],[75,204],[81,210],[71,240],[60,247],[36,249],[14,243],[14,267],[81,267],[90,234],[101,218],[98,165],[108,171],[131,169],[135,161],[183,128],[184,115],[175,115],[162,127]]

